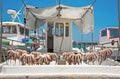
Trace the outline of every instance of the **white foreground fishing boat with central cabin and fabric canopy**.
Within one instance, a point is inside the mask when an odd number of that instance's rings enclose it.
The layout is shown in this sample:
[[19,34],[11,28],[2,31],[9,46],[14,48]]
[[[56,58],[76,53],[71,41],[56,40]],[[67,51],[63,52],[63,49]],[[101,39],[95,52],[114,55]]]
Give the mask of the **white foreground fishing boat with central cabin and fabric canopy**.
[[[24,3],[24,0],[22,0]],[[59,0],[60,1],[60,0]],[[93,2],[93,4],[95,1]],[[24,3],[25,4],[25,3]],[[82,33],[89,33],[90,28],[93,28],[93,8],[92,5],[84,6],[80,8],[61,5],[60,3],[50,8],[36,8],[25,5],[25,18],[28,26],[35,29],[42,27],[46,24],[46,36],[45,36],[45,53],[51,55],[51,53],[61,56],[63,52],[72,52],[72,23],[74,23]],[[71,12],[72,11],[72,12]],[[79,12],[80,11],[80,12]],[[68,14],[69,13],[69,14]],[[72,15],[72,16],[71,16]],[[81,24],[81,26],[79,26]],[[89,27],[91,26],[91,27]],[[89,28],[89,29],[88,29]],[[93,30],[93,29],[92,29]],[[111,53],[110,49],[107,49],[108,53]],[[72,53],[72,55],[75,55]],[[14,55],[13,55],[14,56]],[[32,60],[31,54],[24,54],[23,57],[28,60]],[[84,56],[84,55],[83,55]],[[28,58],[29,57],[29,58]],[[40,56],[41,57],[41,56]],[[42,55],[44,58],[45,55]],[[54,58],[55,56],[51,56]],[[71,58],[76,60],[76,58]],[[49,60],[44,58],[43,62]],[[62,60],[58,58],[58,62]],[[26,64],[18,65],[17,61],[6,61],[0,65],[0,78],[13,78],[13,79],[116,79],[120,78],[120,64],[114,60],[106,60],[107,65],[95,65],[91,64],[71,64],[63,65],[56,64]],[[32,61],[33,62],[33,61]],[[74,62],[74,61],[73,61]],[[110,64],[108,64],[110,63]],[[117,64],[116,64],[117,63]],[[103,63],[102,63],[103,64]]]

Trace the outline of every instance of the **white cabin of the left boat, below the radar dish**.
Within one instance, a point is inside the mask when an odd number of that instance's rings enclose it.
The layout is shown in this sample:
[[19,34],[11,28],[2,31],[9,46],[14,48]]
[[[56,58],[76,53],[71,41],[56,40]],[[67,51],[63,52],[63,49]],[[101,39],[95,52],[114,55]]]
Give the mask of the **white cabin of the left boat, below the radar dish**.
[[24,25],[17,22],[3,22],[2,23],[3,31],[2,35],[6,39],[20,41],[29,36],[29,29],[24,28]]

